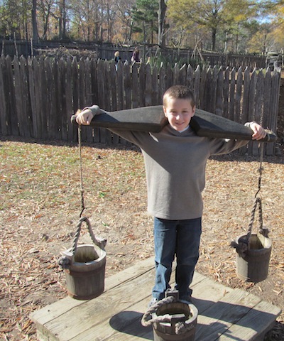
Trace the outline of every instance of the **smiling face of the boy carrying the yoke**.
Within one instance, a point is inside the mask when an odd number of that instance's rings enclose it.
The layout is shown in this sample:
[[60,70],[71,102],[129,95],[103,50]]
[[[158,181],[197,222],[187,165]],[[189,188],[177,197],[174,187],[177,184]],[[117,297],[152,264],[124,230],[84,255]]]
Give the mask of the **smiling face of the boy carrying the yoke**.
[[195,114],[195,107],[192,107],[190,99],[168,97],[163,109],[170,126],[177,131],[187,128]]

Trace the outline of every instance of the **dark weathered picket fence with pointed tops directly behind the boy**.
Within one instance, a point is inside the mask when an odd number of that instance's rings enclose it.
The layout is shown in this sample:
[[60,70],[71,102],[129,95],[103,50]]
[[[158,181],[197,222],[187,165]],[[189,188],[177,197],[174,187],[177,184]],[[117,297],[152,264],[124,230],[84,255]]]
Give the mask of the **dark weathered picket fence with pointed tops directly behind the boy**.
[[[258,121],[276,131],[280,73],[114,63],[105,60],[0,58],[0,133],[42,140],[77,141],[70,117],[92,104],[107,111],[162,103],[175,84],[195,93],[197,107],[241,124]],[[126,141],[106,129],[82,127],[82,141],[109,145]],[[251,143],[250,143],[251,144]],[[252,145],[252,144],[251,144]],[[275,143],[267,144],[273,155]],[[249,153],[255,148],[250,147]]]

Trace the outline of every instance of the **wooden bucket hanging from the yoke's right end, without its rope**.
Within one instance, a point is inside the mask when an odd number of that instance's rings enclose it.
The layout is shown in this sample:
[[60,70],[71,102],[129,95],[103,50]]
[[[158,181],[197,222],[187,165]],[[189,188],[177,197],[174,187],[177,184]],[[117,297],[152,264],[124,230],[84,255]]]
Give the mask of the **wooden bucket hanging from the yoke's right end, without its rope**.
[[[237,239],[244,239],[246,235]],[[245,254],[236,253],[236,275],[243,281],[258,283],[268,276],[271,257],[271,239],[262,234],[251,234],[249,249]]]

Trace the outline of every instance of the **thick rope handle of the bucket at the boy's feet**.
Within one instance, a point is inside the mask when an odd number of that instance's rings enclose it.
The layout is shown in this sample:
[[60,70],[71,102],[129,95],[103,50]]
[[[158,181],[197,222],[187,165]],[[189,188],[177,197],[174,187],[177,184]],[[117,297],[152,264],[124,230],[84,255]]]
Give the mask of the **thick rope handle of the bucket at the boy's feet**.
[[[165,315],[159,315],[156,318],[150,318],[148,319],[152,313],[155,313],[155,311],[158,310],[162,305],[168,304],[168,303],[173,303],[175,302],[176,299],[174,296],[168,296],[163,298],[162,300],[158,301],[154,305],[152,305],[146,313],[143,315],[141,324],[143,327],[148,327],[149,325],[153,325],[153,323],[171,323],[173,316],[170,314],[165,314]],[[189,330],[192,330],[194,328],[194,325],[187,325],[187,323],[184,322],[178,322],[175,323],[175,334],[180,335],[183,334]]]

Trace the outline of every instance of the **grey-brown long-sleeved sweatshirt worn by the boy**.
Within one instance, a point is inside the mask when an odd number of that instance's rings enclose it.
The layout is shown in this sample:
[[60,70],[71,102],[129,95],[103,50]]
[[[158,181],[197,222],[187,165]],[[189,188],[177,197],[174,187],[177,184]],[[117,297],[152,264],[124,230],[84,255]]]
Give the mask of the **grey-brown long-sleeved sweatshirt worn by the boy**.
[[190,128],[180,133],[170,124],[159,133],[110,130],[141,148],[146,168],[148,212],[167,220],[202,217],[207,159],[230,153],[248,143],[200,137]]

